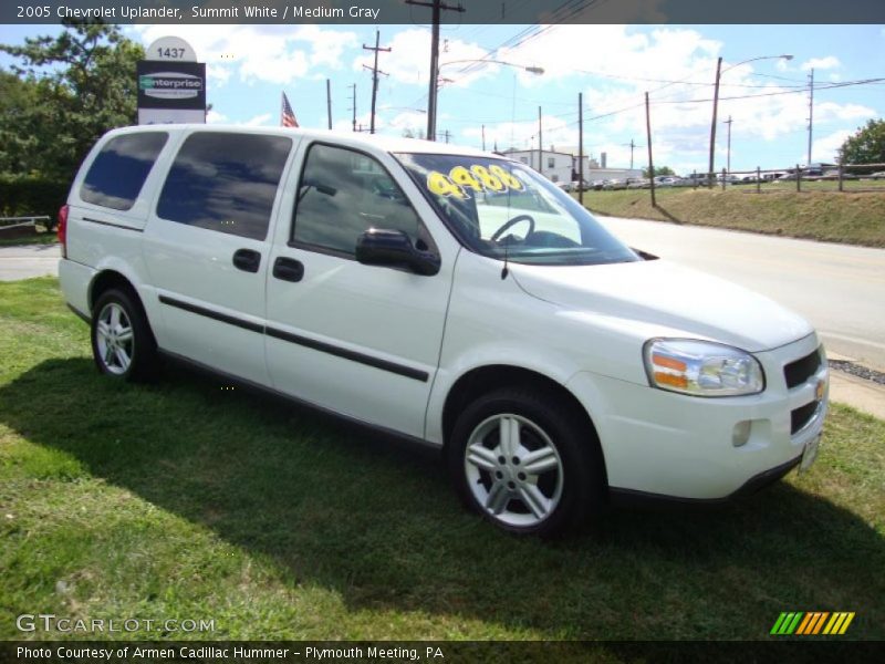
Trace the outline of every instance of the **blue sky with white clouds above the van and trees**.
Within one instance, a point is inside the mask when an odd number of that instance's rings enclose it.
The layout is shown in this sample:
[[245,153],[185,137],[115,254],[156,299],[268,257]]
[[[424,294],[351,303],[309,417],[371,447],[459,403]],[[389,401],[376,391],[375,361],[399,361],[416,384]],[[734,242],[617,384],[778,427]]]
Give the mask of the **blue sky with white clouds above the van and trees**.
[[[430,31],[427,25],[127,25],[147,45],[181,37],[208,68],[210,122],[277,125],[285,91],[302,126],[326,126],[325,80],[332,81],[333,120],[351,128],[351,85],[357,122],[368,125],[371,73],[363,64],[375,29],[379,66],[379,133],[424,129]],[[54,27],[0,27],[0,41]],[[513,38],[521,34],[521,43]],[[444,27],[438,133],[479,146],[481,126],[491,148],[537,147],[538,106],[544,147],[577,144],[577,93],[584,94],[584,148],[627,167],[631,141],[645,146],[645,91],[652,98],[655,163],[679,173],[704,170],[709,149],[716,59],[725,59],[719,118],[731,125],[733,170],[783,168],[806,162],[808,74],[815,70],[812,162],[833,160],[848,134],[885,116],[885,28],[882,25],[475,25]],[[491,54],[491,55],[489,55]],[[756,60],[791,54],[790,61]],[[491,56],[522,66],[450,61]],[[0,59],[0,65],[9,63]],[[465,69],[468,68],[468,69]],[[679,83],[673,83],[679,82]],[[840,85],[840,87],[832,87]],[[745,97],[745,98],[736,98]],[[717,168],[726,165],[727,132],[719,124]],[[635,163],[646,160],[644,147]]]

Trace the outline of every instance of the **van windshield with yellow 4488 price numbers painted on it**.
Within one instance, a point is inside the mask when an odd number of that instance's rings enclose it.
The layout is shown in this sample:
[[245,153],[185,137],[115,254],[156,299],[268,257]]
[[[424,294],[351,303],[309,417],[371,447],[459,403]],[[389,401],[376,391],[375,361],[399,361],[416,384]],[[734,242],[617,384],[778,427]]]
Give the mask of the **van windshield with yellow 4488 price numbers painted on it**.
[[489,157],[396,156],[446,225],[477,253],[551,266],[641,260],[571,196],[528,167]]

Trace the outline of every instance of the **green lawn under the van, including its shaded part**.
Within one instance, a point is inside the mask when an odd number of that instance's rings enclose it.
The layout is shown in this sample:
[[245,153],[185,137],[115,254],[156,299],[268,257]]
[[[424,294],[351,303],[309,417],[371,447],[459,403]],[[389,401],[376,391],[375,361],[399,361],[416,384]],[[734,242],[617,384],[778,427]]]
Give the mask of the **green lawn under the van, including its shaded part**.
[[0,283],[0,639],[54,613],[215,620],[177,639],[766,640],[813,610],[885,639],[885,422],[847,407],[809,474],[743,504],[543,543],[466,513],[433,454],[183,370],[100,377],[54,279]]

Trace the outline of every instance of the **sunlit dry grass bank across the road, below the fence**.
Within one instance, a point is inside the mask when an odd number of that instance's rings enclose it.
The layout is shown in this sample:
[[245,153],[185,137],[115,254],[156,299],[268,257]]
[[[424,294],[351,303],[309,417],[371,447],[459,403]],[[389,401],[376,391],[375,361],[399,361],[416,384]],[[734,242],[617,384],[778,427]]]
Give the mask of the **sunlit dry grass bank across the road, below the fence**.
[[[844,193],[834,191],[833,183],[802,186],[803,191],[796,193],[795,183],[766,185],[761,194],[752,185],[726,190],[668,187],[657,189],[657,207],[652,207],[647,189],[585,191],[584,205],[614,217],[885,247],[885,183],[846,183]],[[878,190],[851,190],[861,186]]]

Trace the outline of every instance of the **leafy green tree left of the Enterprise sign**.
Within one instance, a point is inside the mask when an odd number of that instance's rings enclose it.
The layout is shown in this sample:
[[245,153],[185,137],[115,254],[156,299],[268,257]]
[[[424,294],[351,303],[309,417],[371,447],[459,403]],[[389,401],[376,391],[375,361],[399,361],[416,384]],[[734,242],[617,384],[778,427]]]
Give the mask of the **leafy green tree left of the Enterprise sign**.
[[[17,157],[19,168],[70,179],[98,136],[134,124],[135,65],[144,49],[118,27],[64,21],[56,37],[0,44],[0,51],[19,59],[11,69],[22,103],[0,104],[0,134],[18,133],[17,141],[29,145]],[[3,80],[9,84],[8,75]]]

